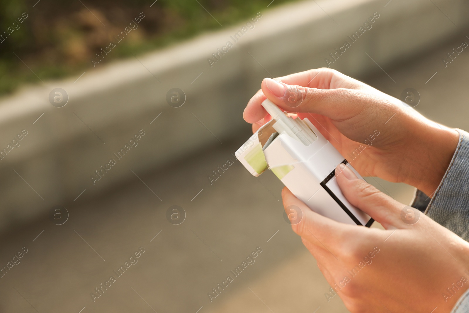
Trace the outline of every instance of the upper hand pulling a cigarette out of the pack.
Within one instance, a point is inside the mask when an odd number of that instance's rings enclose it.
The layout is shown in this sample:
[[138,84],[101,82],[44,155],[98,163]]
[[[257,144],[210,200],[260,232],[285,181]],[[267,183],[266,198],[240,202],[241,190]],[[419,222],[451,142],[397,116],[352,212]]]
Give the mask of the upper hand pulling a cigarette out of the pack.
[[427,195],[438,187],[459,138],[456,130],[333,69],[265,78],[244,110],[253,130],[271,118],[261,106],[266,97],[307,117],[362,176],[408,183]]

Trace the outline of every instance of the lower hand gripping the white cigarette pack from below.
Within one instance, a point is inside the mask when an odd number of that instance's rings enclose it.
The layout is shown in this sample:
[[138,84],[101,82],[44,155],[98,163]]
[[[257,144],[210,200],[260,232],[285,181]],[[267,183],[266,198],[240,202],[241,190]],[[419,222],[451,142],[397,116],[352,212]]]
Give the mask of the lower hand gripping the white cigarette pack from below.
[[287,213],[303,213],[292,228],[332,287],[326,298],[338,295],[351,312],[450,312],[469,288],[469,244],[348,167],[335,173],[348,201],[386,230],[328,219],[284,188]]

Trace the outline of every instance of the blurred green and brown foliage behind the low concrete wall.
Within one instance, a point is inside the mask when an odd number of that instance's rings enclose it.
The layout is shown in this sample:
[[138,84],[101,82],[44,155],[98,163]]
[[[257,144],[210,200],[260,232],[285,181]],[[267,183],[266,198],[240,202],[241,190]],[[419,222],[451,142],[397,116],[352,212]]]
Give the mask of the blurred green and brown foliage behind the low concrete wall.
[[[138,28],[101,64],[131,53],[151,51],[202,31],[220,30],[219,23],[225,27],[242,22],[264,12],[272,0],[153,1],[1,0],[0,93],[12,92],[20,84],[92,68],[91,59],[96,53],[115,41],[114,36],[140,12],[145,18]],[[292,0],[275,0],[269,8],[287,1]],[[19,23],[22,16],[27,18]]]

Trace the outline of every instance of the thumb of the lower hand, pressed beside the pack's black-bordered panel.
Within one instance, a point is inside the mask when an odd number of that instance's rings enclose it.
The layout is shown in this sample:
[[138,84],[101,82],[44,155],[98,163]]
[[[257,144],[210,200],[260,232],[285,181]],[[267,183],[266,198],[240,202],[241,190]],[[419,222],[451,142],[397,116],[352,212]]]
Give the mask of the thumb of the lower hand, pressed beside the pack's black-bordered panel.
[[354,206],[370,215],[385,229],[401,228],[401,210],[405,206],[359,179],[347,165],[340,163],[335,176],[345,198]]

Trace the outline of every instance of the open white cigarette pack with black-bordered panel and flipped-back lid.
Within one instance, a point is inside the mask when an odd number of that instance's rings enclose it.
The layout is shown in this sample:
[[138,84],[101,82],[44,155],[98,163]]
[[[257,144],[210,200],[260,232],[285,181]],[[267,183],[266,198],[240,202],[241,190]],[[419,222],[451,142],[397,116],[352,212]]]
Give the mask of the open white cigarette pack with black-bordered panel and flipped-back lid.
[[286,131],[278,133],[274,129],[275,123],[272,119],[263,125],[236,151],[236,158],[242,165],[254,176],[266,169],[272,170],[296,198],[318,214],[335,221],[370,227],[374,220],[348,202],[337,184],[334,169],[344,163],[356,176],[363,177],[307,118],[297,117],[295,123],[301,123],[303,129],[306,126],[306,131],[312,132],[311,137],[317,137],[309,145]]

